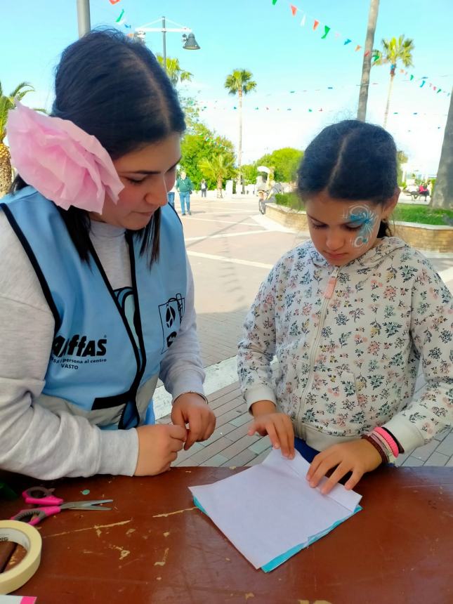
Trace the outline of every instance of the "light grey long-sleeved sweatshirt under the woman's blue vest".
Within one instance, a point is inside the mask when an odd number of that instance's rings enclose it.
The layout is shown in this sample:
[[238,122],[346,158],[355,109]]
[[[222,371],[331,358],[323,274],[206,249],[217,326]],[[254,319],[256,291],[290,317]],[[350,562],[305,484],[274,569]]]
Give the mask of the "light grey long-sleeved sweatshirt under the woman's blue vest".
[[[91,241],[112,289],[131,286],[124,229],[92,222]],[[0,468],[43,480],[97,473],[133,475],[135,429],[103,431],[81,416],[34,405],[54,336],[54,320],[22,244],[0,212]],[[178,258],[175,258],[178,261]],[[203,393],[194,289],[188,265],[185,315],[162,362],[160,377],[173,400]]]

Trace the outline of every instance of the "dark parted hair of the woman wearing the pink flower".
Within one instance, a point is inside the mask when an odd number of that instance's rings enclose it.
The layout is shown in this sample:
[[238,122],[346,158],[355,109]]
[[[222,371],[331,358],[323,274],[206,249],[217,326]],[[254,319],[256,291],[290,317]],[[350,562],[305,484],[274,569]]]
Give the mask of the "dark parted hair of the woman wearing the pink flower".
[[[185,130],[176,91],[155,55],[116,29],[98,29],[68,46],[55,71],[51,114],[69,119],[96,136],[112,159]],[[11,192],[27,185],[16,176]],[[89,262],[90,218],[73,206],[60,209],[82,260]],[[142,237],[140,253],[150,247],[159,257],[160,211],[133,235]]]

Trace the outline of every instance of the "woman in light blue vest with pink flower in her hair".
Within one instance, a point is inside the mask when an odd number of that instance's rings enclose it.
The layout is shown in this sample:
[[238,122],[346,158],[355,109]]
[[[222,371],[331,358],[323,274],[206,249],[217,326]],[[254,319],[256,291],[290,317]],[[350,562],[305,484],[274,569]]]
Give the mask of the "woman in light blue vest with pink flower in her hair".
[[[166,206],[184,129],[155,57],[116,31],[63,52],[51,117],[10,112],[20,176],[0,202],[1,468],[153,475],[214,431]],[[154,425],[159,377],[173,425]]]

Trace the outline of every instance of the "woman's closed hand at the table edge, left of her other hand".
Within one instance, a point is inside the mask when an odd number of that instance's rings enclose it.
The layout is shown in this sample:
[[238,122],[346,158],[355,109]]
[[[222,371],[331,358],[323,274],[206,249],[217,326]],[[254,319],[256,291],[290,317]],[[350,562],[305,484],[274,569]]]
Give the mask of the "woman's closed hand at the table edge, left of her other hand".
[[184,446],[187,430],[171,424],[138,426],[138,459],[134,475],[154,476],[170,469]]

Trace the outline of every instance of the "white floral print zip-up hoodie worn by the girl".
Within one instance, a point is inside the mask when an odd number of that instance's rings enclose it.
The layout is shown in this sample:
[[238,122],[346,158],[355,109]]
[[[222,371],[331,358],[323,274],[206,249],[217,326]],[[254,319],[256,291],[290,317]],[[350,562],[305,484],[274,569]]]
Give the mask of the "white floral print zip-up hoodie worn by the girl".
[[[420,359],[428,386],[412,400]],[[261,284],[238,372],[248,406],[272,400],[314,449],[385,426],[410,452],[453,423],[452,296],[397,237],[341,267],[305,242]]]

